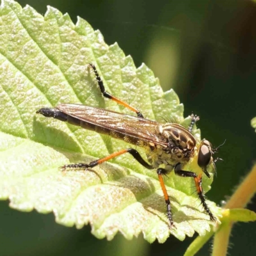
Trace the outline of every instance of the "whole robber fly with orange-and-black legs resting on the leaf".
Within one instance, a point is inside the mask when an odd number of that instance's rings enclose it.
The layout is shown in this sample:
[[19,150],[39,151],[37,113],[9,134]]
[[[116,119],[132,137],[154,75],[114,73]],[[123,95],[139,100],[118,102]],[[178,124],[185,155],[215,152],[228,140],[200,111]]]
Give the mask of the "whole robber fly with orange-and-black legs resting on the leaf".
[[[211,221],[216,221],[216,218],[205,202],[204,191],[202,189],[202,174],[205,173],[207,177],[211,177],[207,170],[210,166],[216,169],[215,162],[218,158],[213,160],[212,156],[217,152],[219,147],[212,148],[209,141],[197,141],[193,136],[191,131],[195,122],[199,120],[199,117],[191,115],[191,124],[188,129],[180,124],[161,124],[153,120],[148,120],[143,117],[138,109],[133,108],[106,92],[95,65],[89,63],[88,67],[92,68],[102,95],[130,109],[137,116],[125,115],[115,111],[93,108],[81,104],[60,104],[56,108],[41,108],[36,113],[53,117],[72,125],[78,125],[84,129],[99,132],[100,134],[108,134],[113,138],[143,147],[147,152],[148,162],[134,148],[126,148],[88,164],[67,164],[62,166],[62,170],[66,170],[67,168],[84,168],[86,170],[114,157],[129,153],[145,168],[156,170],[163,190],[167,207],[167,217],[171,227],[173,226],[172,211],[169,196],[164,186],[163,175],[170,173],[172,170],[180,177],[191,177],[194,179],[196,191],[205,212],[209,214]],[[196,166],[197,172],[182,170],[188,163]]]

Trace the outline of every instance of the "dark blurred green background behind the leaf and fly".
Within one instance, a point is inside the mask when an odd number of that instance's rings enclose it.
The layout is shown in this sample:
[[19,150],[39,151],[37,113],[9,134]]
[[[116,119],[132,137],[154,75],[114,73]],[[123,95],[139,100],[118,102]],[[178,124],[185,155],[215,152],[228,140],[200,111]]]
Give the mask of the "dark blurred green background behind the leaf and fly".
[[[51,5],[79,15],[99,29],[107,44],[118,42],[136,67],[145,62],[164,90],[174,88],[185,106],[200,115],[202,138],[223,143],[218,177],[207,197],[221,204],[255,161],[256,3],[202,0],[42,0],[18,1],[39,13]],[[118,95],[117,95],[118,96]],[[256,211],[255,200],[248,205]],[[183,255],[195,237],[183,242],[148,244],[140,236],[126,241],[98,240],[90,227],[67,228],[53,214],[23,213],[0,202],[0,256],[11,255]],[[232,230],[230,255],[256,252],[256,224],[239,223]],[[209,255],[211,244],[197,255]],[[254,253],[253,253],[254,252]]]

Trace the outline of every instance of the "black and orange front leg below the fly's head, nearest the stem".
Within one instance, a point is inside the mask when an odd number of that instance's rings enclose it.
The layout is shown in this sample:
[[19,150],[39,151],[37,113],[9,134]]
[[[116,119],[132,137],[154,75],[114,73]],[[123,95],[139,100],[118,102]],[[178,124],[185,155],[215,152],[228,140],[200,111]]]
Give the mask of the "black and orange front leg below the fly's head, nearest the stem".
[[208,205],[205,202],[204,191],[202,188],[202,173],[199,174],[198,176],[196,176],[195,172],[188,172],[188,171],[181,170],[180,163],[175,165],[174,172],[176,175],[179,175],[180,177],[193,177],[194,178],[197,195],[200,198],[201,204],[203,205],[205,212],[207,212],[207,214],[210,216],[211,221],[216,221],[216,218],[214,217],[210,208],[208,207]]

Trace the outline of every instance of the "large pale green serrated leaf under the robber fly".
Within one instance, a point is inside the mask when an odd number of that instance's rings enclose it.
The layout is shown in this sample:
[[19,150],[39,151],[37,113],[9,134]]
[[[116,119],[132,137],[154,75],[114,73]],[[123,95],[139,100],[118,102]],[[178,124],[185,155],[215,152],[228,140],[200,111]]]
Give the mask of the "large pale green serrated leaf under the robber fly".
[[[4,0],[0,8],[0,198],[20,211],[54,212],[63,225],[82,228],[112,239],[120,231],[127,239],[143,232],[163,243],[210,230],[195,195],[192,179],[164,178],[176,228],[170,229],[156,172],[145,170],[131,156],[120,156],[92,171],[61,172],[63,164],[87,162],[130,147],[124,141],[36,115],[59,103],[130,113],[103,99],[87,63],[97,65],[108,92],[139,108],[144,116],[163,122],[175,118],[184,125],[183,106],[146,66],[134,67],[118,44],[106,45],[99,31],[78,18],[48,7],[44,16],[30,6]],[[131,114],[131,113],[130,113]],[[196,137],[200,138],[198,130]],[[141,148],[138,148],[143,152]],[[145,153],[143,157],[147,159]],[[204,177],[205,191],[212,179]],[[219,209],[212,202],[215,215]]]

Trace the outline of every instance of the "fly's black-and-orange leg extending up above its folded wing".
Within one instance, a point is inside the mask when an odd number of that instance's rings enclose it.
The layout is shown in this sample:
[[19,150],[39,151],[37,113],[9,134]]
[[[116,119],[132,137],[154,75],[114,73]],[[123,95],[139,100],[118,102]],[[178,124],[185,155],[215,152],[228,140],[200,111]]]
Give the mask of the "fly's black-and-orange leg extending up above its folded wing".
[[144,116],[141,114],[140,111],[138,111],[138,109],[136,108],[133,108],[131,105],[127,104],[126,102],[116,98],[115,96],[109,94],[108,92],[106,92],[105,90],[105,87],[104,87],[104,84],[99,76],[99,73],[95,67],[95,65],[93,65],[92,63],[88,63],[88,67],[92,68],[93,69],[93,72],[95,74],[95,77],[97,79],[97,83],[99,85],[99,88],[100,88],[100,92],[102,93],[102,95],[108,99],[111,99],[111,100],[114,100],[116,103],[124,106],[125,108],[127,109],[130,109],[131,111],[135,112],[137,114],[138,117],[141,117],[141,118],[144,118]]

